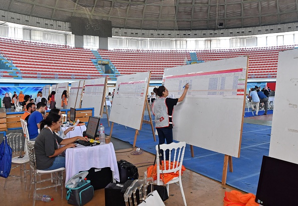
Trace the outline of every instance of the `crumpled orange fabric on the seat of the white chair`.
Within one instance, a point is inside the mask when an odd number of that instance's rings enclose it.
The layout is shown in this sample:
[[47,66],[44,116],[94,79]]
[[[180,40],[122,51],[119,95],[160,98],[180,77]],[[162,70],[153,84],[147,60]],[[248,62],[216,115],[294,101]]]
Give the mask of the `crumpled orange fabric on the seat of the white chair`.
[[[171,161],[171,168],[173,168],[173,163],[174,162]],[[178,163],[178,165],[179,165],[179,163]],[[157,180],[156,166],[157,165],[154,165],[154,167],[153,167],[153,165],[151,165],[147,168],[147,177],[151,177],[151,174],[152,174],[153,179]],[[165,168],[164,165],[163,165],[163,168]],[[167,169],[169,168],[169,160],[166,161],[166,168]],[[153,173],[152,173],[152,169],[153,169]],[[181,174],[183,174],[183,171],[185,171],[185,166],[182,165]],[[170,180],[172,180],[174,177],[178,177],[178,176],[179,176],[179,171],[171,172],[171,173],[164,173],[165,184],[168,183]],[[163,174],[162,173],[160,174],[160,178],[161,178],[161,180],[163,179]]]

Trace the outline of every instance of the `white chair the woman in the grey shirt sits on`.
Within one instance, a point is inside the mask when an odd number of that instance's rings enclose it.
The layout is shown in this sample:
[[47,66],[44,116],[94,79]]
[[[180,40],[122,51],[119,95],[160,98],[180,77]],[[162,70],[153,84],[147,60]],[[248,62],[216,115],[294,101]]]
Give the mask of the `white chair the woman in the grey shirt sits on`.
[[[34,152],[34,144],[32,144],[30,141],[26,139],[28,151],[29,151],[29,159],[30,159],[30,167],[31,167],[31,173],[30,173],[30,189],[29,189],[29,197],[31,194],[31,187],[32,184],[34,184],[34,191],[33,191],[33,206],[35,205],[36,200],[36,191],[41,189],[47,189],[50,187],[55,187],[55,190],[57,191],[57,186],[61,187],[61,198],[63,198],[63,170],[65,170],[65,167],[60,167],[58,169],[53,170],[40,170],[36,167],[36,157]],[[47,179],[40,179],[40,176],[42,174],[51,174],[51,178]],[[54,175],[52,175],[54,174]],[[39,180],[37,178],[37,175],[39,175]],[[37,187],[37,183],[41,183],[44,181],[54,180],[54,184],[50,183],[48,186],[44,187]]]

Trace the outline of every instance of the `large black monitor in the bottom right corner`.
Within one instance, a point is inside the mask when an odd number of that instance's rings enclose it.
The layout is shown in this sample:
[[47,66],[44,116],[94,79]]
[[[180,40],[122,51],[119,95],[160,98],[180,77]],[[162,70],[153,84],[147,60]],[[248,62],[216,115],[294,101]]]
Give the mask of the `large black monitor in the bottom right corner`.
[[298,164],[263,156],[255,201],[263,206],[298,205]]

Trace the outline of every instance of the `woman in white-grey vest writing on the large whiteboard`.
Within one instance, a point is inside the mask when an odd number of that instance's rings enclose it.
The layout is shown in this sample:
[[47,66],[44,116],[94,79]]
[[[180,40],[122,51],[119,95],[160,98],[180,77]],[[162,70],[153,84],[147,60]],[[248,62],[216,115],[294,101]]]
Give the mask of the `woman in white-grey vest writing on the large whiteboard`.
[[[152,108],[153,114],[155,115],[155,127],[159,134],[159,144],[163,144],[165,141],[167,141],[167,144],[173,142],[172,114],[174,106],[177,105],[178,102],[183,101],[188,88],[189,84],[187,83],[180,98],[167,98],[169,91],[165,86],[159,86],[153,89],[156,96],[159,96],[159,98],[154,101]],[[163,152],[161,159],[164,159]],[[169,150],[166,150],[166,160],[169,160]]]

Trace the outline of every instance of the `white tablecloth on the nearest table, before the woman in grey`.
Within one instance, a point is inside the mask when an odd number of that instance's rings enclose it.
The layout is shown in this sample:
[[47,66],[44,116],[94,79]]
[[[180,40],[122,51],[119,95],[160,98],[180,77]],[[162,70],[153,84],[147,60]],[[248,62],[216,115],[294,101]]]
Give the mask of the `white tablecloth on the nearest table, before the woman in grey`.
[[115,180],[120,181],[116,154],[112,142],[96,146],[77,146],[66,149],[65,169],[67,182],[79,171],[86,171],[92,167],[110,167]]

